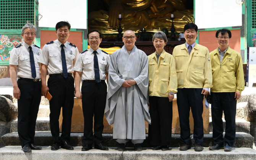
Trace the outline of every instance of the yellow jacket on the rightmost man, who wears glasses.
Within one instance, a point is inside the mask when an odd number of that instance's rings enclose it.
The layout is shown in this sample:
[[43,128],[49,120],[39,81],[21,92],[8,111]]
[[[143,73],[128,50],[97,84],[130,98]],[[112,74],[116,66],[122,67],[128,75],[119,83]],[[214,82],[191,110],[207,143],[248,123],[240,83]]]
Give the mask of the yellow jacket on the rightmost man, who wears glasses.
[[245,89],[241,54],[228,47],[220,64],[219,49],[210,53],[212,60],[211,92],[242,92]]

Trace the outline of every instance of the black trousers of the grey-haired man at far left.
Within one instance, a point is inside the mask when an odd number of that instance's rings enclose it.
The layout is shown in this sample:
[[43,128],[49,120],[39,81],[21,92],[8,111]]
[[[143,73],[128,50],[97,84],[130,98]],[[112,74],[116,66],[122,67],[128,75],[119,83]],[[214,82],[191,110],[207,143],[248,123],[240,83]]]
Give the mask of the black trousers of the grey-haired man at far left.
[[17,81],[21,95],[18,99],[18,135],[21,146],[34,143],[36,118],[41,101],[41,82]]

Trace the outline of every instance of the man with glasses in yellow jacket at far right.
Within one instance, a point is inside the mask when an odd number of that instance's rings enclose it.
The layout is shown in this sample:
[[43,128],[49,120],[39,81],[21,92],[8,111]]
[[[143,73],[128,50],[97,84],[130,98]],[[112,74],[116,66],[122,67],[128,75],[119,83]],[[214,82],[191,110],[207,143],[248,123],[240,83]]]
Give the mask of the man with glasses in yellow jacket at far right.
[[[241,54],[231,49],[228,43],[231,32],[228,29],[220,29],[215,34],[219,48],[212,51],[212,138],[214,146],[210,150],[223,149],[231,151],[235,141],[235,115],[237,111],[237,100],[245,89],[243,76],[243,62]],[[223,139],[224,112],[225,146]]]

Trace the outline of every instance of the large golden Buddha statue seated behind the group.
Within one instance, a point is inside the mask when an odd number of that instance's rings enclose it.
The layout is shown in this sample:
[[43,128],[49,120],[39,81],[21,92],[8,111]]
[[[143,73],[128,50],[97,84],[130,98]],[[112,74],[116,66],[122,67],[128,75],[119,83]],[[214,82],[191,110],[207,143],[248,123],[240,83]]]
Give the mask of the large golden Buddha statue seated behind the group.
[[145,28],[156,32],[162,28],[172,27],[171,14],[176,32],[183,32],[187,23],[194,21],[193,10],[186,10],[186,0],[105,0],[109,11],[92,11],[88,14],[88,29],[97,29],[102,33],[117,33],[118,14],[124,30],[138,32]]

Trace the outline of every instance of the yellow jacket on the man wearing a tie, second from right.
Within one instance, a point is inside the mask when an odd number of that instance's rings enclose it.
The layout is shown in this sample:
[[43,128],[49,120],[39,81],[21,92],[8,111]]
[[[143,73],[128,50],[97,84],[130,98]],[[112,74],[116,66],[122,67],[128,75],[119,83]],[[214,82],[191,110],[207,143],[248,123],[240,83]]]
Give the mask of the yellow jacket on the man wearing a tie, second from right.
[[178,88],[211,88],[212,67],[209,50],[195,44],[190,55],[185,44],[176,46],[172,55],[176,62]]

